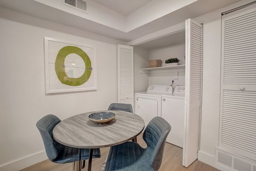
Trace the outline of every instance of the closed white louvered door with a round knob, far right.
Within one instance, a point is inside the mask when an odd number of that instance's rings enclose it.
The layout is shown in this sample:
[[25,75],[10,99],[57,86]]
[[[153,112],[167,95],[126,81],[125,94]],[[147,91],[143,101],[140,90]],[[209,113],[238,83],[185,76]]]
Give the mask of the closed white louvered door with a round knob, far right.
[[220,148],[256,161],[256,5],[222,16]]

